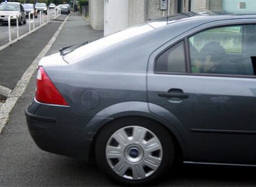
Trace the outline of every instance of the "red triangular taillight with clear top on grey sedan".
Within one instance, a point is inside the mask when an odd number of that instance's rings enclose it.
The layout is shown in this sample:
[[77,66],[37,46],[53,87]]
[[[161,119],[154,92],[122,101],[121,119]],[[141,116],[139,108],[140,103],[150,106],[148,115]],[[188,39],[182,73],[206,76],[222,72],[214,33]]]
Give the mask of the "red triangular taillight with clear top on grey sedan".
[[41,103],[48,103],[54,105],[68,105],[66,100],[59,93],[53,82],[43,70],[43,67],[38,68],[36,76],[36,95],[35,98]]

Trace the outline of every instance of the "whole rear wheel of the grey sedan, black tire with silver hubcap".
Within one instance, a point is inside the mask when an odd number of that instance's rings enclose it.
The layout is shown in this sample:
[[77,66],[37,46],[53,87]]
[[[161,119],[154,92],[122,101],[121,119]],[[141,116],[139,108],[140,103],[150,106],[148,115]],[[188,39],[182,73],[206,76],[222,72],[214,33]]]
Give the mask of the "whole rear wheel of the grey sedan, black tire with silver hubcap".
[[174,150],[173,138],[163,125],[140,117],[106,125],[95,143],[98,166],[122,185],[152,185],[164,177],[173,165]]

